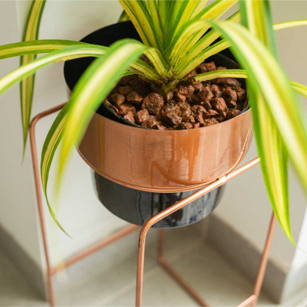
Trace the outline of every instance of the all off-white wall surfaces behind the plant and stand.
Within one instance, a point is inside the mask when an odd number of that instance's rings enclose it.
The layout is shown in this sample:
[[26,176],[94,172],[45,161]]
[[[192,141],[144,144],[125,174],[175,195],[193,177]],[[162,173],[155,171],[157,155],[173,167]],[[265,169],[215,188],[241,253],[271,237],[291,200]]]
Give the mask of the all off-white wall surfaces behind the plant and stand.
[[[8,29],[6,33],[1,31],[0,44],[18,41],[29,2],[2,1],[0,6],[0,14],[3,15],[0,18],[2,29]],[[306,1],[273,1],[272,6],[276,22],[306,17]],[[79,40],[100,27],[116,22],[120,13],[121,7],[116,1],[47,1],[39,37]],[[301,69],[306,68],[303,64],[306,42],[302,39],[305,31],[306,27],[282,30],[277,33],[277,38],[279,56],[290,78],[307,84],[306,69]],[[2,60],[0,65],[2,65],[1,74],[4,75],[17,67],[18,59]],[[37,73],[33,115],[66,100],[62,70],[63,63],[57,63]],[[36,202],[33,194],[29,146],[24,166],[20,167],[22,147],[18,92],[19,89],[15,86],[0,97],[4,106],[0,114],[0,125],[2,131],[7,131],[2,141],[4,150],[0,151],[2,174],[0,223],[10,231],[37,263],[43,265],[44,261],[41,261],[37,243],[39,234],[37,234]],[[37,125],[39,150],[54,118],[54,115],[50,115]],[[244,161],[256,155],[255,145],[252,145]],[[51,183],[53,179],[52,173]],[[292,173],[290,173],[290,191],[292,229],[297,239],[306,201]],[[241,231],[259,249],[264,242],[270,212],[270,204],[258,166],[228,183],[223,201],[216,209],[216,213],[221,218]],[[125,224],[108,213],[96,199],[89,168],[77,153],[72,157],[65,178],[58,217],[74,239],[69,239],[54,226],[45,205],[45,220],[48,225],[49,242],[52,244],[53,264],[61,257],[72,255],[82,247],[106,236],[108,231],[112,232]],[[271,252],[273,259],[285,266],[291,266],[294,252],[294,247],[277,227]]]

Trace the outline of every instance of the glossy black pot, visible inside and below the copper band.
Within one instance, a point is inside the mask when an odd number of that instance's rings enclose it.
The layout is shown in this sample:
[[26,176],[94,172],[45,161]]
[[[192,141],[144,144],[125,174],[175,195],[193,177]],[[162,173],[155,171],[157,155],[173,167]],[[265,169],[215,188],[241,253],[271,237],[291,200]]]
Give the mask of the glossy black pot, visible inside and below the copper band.
[[[137,31],[130,21],[99,29],[87,35],[81,41],[96,45],[109,46],[113,42],[122,38],[134,38],[140,40]],[[232,59],[233,56],[230,51],[224,50],[220,55],[212,56],[208,60],[214,60],[218,66],[226,66],[230,69],[239,68],[238,64]],[[87,57],[65,62],[64,77],[66,84],[71,91],[82,73],[93,60],[94,58]],[[241,81],[244,83],[244,80]],[[113,109],[109,108],[104,103],[101,104],[97,113],[109,119],[125,122],[126,124],[131,125],[129,121],[126,121],[116,114]],[[95,189],[99,200],[103,205],[119,218],[137,225],[142,225],[151,216],[197,191],[152,193],[119,185],[95,172],[94,179]],[[208,216],[219,203],[224,187],[225,185],[200,197],[191,204],[188,204],[184,208],[159,221],[153,227],[182,227],[203,219]]]

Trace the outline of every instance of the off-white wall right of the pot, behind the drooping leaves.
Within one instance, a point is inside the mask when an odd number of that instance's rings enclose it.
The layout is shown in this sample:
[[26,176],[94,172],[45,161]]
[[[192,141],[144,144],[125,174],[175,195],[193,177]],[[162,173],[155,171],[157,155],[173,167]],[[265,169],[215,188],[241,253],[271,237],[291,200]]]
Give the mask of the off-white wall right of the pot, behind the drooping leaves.
[[[271,7],[274,22],[306,18],[307,1],[271,1]],[[307,68],[305,57],[307,43],[302,39],[306,35],[306,30],[307,27],[305,26],[280,30],[276,33],[280,62],[289,79],[303,84],[307,84],[305,73]],[[301,99],[301,101],[306,103],[306,99]],[[253,142],[243,163],[256,156],[257,150],[255,142]],[[291,227],[297,242],[305,214],[306,197],[292,170],[290,170],[289,185]],[[215,212],[248,238],[251,243],[255,244],[259,250],[262,249],[271,208],[259,165],[227,184],[223,200]],[[295,248],[286,238],[279,225],[276,228],[270,256],[281,265],[289,268],[292,266]],[[307,240],[307,234],[305,234],[304,239]],[[302,254],[300,255],[303,257]],[[300,265],[303,263],[305,262],[301,260]]]

